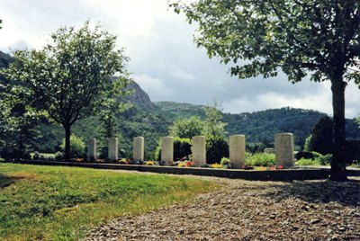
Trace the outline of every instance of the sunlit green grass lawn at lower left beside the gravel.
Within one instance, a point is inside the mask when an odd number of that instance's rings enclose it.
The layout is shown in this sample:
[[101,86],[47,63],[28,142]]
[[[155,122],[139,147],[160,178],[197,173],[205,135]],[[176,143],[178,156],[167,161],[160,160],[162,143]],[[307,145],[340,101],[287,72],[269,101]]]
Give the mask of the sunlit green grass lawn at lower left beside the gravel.
[[216,187],[164,174],[0,163],[0,240],[76,240],[106,220],[191,201]]

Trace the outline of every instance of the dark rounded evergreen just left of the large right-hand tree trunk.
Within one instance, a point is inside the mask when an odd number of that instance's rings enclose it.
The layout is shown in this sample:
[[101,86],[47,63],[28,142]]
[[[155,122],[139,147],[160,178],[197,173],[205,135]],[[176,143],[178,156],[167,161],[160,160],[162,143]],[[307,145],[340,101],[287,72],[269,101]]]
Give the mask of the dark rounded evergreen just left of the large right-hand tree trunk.
[[307,139],[307,151],[316,151],[322,155],[331,154],[334,148],[332,120],[329,116],[324,116],[311,131],[311,136]]

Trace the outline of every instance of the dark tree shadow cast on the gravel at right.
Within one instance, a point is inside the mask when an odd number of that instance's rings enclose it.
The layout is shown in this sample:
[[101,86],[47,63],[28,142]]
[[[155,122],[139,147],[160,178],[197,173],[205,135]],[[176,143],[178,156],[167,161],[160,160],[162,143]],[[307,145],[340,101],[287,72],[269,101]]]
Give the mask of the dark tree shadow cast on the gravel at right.
[[302,181],[274,184],[278,192],[267,193],[274,197],[275,201],[283,201],[288,198],[297,198],[311,203],[338,202],[343,206],[360,206],[360,181],[350,180],[339,183],[332,181]]

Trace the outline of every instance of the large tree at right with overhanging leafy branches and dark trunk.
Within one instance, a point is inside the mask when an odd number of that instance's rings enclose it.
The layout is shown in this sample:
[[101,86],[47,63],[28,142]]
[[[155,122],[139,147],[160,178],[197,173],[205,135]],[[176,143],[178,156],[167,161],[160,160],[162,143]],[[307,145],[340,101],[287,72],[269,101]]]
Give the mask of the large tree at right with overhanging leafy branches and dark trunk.
[[344,93],[346,81],[360,84],[358,0],[198,0],[170,5],[190,23],[198,22],[198,47],[225,64],[232,61],[234,76],[270,77],[282,70],[292,83],[307,75],[315,82],[329,80],[335,144],[330,179],[347,180]]

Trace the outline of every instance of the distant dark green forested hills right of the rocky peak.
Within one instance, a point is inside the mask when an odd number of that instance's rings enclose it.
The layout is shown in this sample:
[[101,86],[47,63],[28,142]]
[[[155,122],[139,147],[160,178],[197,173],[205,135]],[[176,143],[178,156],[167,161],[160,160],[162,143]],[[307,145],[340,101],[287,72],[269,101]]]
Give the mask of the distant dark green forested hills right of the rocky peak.
[[[203,106],[189,103],[159,102],[157,107],[169,114],[169,118],[187,118],[197,115],[204,117]],[[265,142],[271,145],[275,133],[291,132],[295,144],[302,146],[311,129],[325,113],[312,110],[284,107],[262,112],[224,113],[223,120],[228,125],[228,135],[246,135],[247,142]],[[354,120],[347,120],[347,139],[360,139],[360,129]]]

